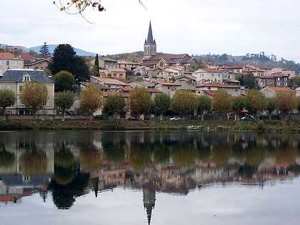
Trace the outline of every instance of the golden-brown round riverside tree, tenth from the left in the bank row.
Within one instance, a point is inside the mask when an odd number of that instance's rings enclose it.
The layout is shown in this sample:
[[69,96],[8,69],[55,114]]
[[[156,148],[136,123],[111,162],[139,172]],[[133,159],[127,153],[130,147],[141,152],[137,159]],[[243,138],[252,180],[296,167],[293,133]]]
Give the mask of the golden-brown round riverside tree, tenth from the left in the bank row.
[[212,100],[212,108],[216,111],[216,114],[227,114],[231,109],[229,94],[221,89],[216,91]]

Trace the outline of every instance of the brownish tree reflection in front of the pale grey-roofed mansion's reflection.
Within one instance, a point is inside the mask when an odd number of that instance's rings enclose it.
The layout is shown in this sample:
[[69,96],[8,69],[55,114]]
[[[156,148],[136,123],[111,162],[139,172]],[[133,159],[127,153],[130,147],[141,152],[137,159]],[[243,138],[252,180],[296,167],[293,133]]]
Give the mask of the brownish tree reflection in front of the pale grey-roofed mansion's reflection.
[[20,157],[21,168],[25,175],[44,174],[47,168],[45,151],[37,149],[35,144],[27,149]]

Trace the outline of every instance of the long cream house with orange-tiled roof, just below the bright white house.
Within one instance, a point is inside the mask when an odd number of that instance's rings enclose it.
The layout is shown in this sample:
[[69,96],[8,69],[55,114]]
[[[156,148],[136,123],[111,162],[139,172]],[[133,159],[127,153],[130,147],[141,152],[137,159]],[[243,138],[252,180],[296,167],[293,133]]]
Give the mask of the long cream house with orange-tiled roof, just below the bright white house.
[[219,83],[205,83],[196,85],[196,94],[214,96],[214,92],[218,90],[226,91],[229,96],[241,96],[241,86],[232,86]]

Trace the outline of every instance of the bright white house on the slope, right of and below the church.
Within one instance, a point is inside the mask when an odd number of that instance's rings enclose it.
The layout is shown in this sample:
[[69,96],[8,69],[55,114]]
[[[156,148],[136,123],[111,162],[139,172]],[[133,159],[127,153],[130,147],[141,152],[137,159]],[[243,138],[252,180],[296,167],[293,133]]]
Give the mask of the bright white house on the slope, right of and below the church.
[[219,84],[223,83],[223,70],[202,68],[192,72],[191,75],[196,77],[197,84],[207,81]]

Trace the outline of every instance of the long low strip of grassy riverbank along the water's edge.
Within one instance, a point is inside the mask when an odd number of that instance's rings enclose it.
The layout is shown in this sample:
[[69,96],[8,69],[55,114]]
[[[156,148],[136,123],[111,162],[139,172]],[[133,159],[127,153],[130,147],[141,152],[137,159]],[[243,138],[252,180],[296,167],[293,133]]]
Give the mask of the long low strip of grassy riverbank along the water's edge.
[[126,129],[187,129],[201,126],[209,130],[300,132],[300,121],[0,121],[1,131],[24,130],[126,130]]

